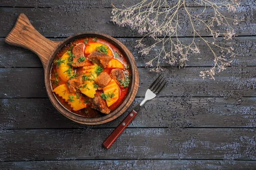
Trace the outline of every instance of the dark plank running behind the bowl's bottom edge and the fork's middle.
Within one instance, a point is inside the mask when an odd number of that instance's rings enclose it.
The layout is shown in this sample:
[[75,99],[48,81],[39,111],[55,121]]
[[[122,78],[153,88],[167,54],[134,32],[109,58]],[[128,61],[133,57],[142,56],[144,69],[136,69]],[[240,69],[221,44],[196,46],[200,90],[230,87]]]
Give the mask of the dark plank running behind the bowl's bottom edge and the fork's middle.
[[[142,98],[114,121],[86,126],[67,119],[49,99],[1,99],[0,129],[115,128]],[[256,97],[158,97],[145,104],[128,127],[256,127]],[[157,103],[155,106],[154,103]]]

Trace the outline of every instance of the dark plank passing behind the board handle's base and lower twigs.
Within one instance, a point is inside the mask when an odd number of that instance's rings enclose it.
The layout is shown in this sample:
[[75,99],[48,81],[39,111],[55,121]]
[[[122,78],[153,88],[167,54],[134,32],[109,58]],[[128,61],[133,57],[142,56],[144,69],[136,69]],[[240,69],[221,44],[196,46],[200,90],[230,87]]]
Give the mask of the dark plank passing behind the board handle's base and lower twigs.
[[[209,40],[209,38],[206,38]],[[60,41],[63,39],[60,38],[51,38],[54,41]],[[138,67],[144,67],[146,61],[152,60],[155,56],[157,56],[157,51],[160,46],[156,46],[155,49],[150,52],[148,56],[141,56],[138,53],[139,49],[135,48],[137,45],[136,40],[139,38],[117,38],[117,40],[121,41],[132,53],[135,57]],[[183,42],[191,42],[192,38],[181,38]],[[212,54],[207,49],[205,44],[202,41],[198,41],[199,38],[196,38],[196,42],[198,42],[198,46],[200,47],[199,54],[193,54],[189,56],[189,61],[186,63],[188,66],[213,66],[213,58]],[[147,39],[148,42],[152,42],[152,39]],[[220,44],[221,46],[232,46],[234,48],[234,53],[236,53],[236,57],[229,58],[232,62],[232,65],[243,65],[243,66],[256,66],[256,37],[235,37],[232,40],[216,42],[216,44]],[[219,52],[219,49],[214,48],[216,52]],[[26,49],[22,49],[15,46],[10,46],[4,42],[4,38],[0,38],[0,67],[10,68],[10,67],[42,67],[42,64],[36,54],[28,51]],[[161,66],[170,66],[166,63],[165,60],[160,60]],[[156,63],[153,62],[155,66]],[[176,64],[175,66],[178,66]]]

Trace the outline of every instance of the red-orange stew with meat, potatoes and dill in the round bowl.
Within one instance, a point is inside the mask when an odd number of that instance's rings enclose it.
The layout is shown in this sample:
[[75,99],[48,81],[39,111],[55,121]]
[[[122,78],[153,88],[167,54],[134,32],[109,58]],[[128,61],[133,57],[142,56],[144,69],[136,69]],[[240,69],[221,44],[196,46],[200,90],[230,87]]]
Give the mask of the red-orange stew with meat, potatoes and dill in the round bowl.
[[130,68],[113,44],[82,38],[65,46],[51,68],[52,91],[68,110],[83,117],[100,117],[115,110],[130,85]]

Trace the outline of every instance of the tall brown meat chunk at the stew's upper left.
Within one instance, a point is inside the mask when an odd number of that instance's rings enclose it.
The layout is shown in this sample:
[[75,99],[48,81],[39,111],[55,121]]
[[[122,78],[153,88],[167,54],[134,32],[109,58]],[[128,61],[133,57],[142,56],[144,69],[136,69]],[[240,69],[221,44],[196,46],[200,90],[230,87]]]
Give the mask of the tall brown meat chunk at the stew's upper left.
[[72,53],[74,54],[74,57],[73,57],[73,63],[72,63],[72,66],[73,67],[82,67],[85,65],[85,61],[81,61],[80,59],[80,62],[79,62],[79,58],[80,57],[84,57],[83,55],[83,50],[84,50],[84,47],[85,45],[80,42],[78,44],[76,44],[76,46],[74,46],[73,50],[72,50]]

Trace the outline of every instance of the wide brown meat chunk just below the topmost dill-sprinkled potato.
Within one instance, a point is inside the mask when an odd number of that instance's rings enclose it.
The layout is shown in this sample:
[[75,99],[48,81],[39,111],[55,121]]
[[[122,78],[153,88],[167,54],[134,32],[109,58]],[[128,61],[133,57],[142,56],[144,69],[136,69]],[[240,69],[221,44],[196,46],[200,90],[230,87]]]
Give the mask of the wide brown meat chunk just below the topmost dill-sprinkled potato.
[[108,65],[108,62],[112,59],[112,57],[95,50],[95,51],[92,51],[90,55],[88,55],[88,59],[91,62],[96,63],[97,65],[103,68],[106,68]]

